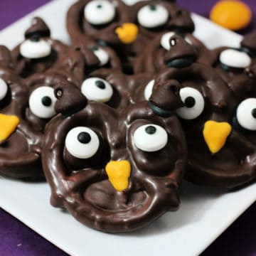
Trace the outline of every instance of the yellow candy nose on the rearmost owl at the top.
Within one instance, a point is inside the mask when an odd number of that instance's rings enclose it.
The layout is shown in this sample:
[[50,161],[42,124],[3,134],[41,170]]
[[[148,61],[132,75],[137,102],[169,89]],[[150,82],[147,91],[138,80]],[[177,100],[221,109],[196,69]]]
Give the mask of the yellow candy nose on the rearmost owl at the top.
[[132,43],[136,40],[139,28],[134,23],[123,23],[116,28],[115,33],[122,43]]

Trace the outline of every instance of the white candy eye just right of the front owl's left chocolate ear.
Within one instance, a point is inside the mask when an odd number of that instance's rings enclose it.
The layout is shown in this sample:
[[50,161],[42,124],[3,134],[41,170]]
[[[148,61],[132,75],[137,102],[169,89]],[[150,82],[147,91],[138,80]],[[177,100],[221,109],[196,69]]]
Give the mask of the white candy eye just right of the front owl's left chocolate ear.
[[101,78],[88,78],[82,82],[81,92],[88,100],[108,102],[112,95],[112,86]]

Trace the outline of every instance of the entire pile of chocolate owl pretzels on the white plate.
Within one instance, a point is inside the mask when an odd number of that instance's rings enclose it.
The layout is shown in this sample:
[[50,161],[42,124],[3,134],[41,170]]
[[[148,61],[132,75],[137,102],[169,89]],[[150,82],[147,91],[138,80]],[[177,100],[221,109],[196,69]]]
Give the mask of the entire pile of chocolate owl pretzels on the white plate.
[[108,233],[177,210],[183,178],[256,179],[256,34],[209,50],[175,1],[80,0],[72,45],[33,18],[0,46],[0,174],[46,178],[50,203]]

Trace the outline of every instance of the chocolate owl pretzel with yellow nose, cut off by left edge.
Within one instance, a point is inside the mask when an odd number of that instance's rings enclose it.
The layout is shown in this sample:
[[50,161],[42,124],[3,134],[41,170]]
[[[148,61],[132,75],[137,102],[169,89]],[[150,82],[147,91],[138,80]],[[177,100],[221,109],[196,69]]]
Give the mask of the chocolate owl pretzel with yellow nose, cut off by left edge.
[[13,73],[3,74],[1,78],[8,85],[11,96],[7,95],[9,100],[1,110],[1,134],[4,134],[0,144],[1,174],[13,178],[42,178],[43,132],[55,115],[53,85],[65,80],[58,75],[11,80],[15,78]]

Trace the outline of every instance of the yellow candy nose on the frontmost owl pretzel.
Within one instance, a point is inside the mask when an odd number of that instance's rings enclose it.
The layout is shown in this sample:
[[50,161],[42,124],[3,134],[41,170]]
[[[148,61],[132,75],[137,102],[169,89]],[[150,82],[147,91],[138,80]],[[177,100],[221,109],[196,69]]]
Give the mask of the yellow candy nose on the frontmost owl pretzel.
[[107,176],[110,183],[117,191],[124,191],[129,186],[129,176],[131,174],[131,164],[129,161],[110,161],[106,165]]

